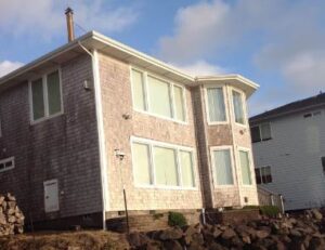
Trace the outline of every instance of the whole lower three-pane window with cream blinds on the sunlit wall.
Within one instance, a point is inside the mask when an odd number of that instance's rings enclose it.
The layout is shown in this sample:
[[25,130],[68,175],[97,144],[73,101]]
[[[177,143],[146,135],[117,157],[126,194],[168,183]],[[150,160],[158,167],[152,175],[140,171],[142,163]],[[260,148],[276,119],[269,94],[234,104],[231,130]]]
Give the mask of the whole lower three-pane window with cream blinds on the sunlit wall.
[[134,183],[153,187],[195,187],[194,150],[188,147],[132,137]]

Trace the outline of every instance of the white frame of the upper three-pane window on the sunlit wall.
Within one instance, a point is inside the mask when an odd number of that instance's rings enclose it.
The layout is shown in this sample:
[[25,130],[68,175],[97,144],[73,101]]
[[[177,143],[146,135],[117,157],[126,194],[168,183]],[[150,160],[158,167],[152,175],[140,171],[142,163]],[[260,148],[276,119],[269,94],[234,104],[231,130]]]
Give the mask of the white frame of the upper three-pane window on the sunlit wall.
[[[132,70],[139,71],[141,74],[143,74],[143,88],[144,88],[144,106],[145,106],[145,110],[139,109],[135,107],[134,104],[134,91],[133,91],[133,78],[132,78]],[[170,104],[171,104],[171,117],[167,117],[167,116],[161,116],[158,114],[155,114],[151,110],[151,97],[148,94],[148,80],[147,78],[152,77],[152,78],[156,78],[157,80],[161,80],[168,83],[168,88],[169,88],[169,98],[170,98]],[[181,84],[181,83],[177,83],[172,80],[169,80],[165,77],[158,76],[157,74],[144,70],[142,68],[135,67],[135,66],[130,66],[130,87],[131,87],[131,97],[132,97],[132,108],[134,111],[144,114],[144,115],[150,115],[153,117],[157,117],[164,120],[168,120],[168,121],[173,121],[173,122],[178,122],[181,124],[188,124],[188,115],[187,115],[187,102],[186,102],[186,88],[185,85]],[[184,108],[184,120],[180,120],[176,117],[176,102],[174,102],[174,91],[173,91],[173,85],[180,87],[182,89],[183,92],[183,108]]]

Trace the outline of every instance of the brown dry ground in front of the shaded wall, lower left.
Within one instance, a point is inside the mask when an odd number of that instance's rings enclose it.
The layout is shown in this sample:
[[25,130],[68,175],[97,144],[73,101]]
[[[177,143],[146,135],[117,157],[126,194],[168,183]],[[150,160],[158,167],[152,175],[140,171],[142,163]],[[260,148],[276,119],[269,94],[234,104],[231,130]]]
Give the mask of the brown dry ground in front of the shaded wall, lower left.
[[42,232],[0,237],[0,250],[114,250],[128,249],[121,234],[103,231]]

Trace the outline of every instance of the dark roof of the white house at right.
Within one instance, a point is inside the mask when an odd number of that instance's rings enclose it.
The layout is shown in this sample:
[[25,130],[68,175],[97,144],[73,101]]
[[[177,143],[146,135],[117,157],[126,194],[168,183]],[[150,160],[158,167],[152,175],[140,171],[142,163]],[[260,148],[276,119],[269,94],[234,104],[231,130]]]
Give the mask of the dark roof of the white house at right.
[[292,113],[303,111],[311,108],[317,108],[321,106],[325,106],[325,93],[320,93],[309,98],[303,98],[292,103],[288,103],[272,110],[253,116],[249,119],[249,121],[253,123]]

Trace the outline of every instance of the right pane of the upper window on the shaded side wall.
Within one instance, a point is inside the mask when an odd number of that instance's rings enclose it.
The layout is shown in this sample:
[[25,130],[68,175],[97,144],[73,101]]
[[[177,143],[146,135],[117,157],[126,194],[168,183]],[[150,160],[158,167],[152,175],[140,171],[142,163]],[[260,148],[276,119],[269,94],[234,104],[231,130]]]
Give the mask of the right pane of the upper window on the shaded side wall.
[[49,115],[61,111],[61,90],[58,71],[48,75]]

